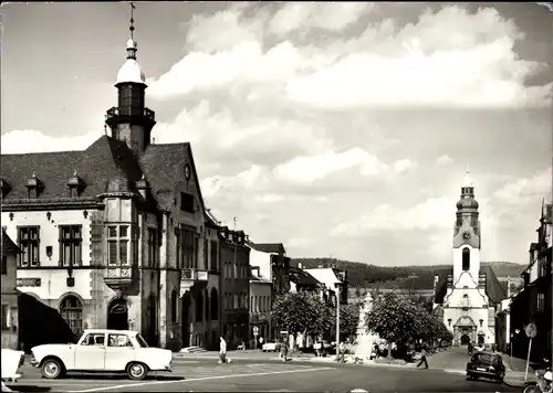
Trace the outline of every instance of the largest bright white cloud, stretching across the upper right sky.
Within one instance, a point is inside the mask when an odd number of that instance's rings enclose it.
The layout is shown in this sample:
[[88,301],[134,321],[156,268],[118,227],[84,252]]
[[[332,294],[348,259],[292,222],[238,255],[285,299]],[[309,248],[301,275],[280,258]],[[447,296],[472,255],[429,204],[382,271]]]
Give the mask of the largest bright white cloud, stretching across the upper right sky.
[[[286,35],[315,26],[341,30],[367,10],[364,3],[285,3],[267,26],[264,8],[257,19],[239,10],[194,19],[188,31],[194,51],[152,78],[148,92],[170,98],[262,84],[282,99],[323,109],[551,102],[553,85],[525,86],[543,64],[517,54],[514,45],[524,35],[492,8],[470,13],[444,7],[404,26],[380,18],[356,36],[331,39],[323,31],[309,44]],[[262,29],[279,40],[268,45]]]

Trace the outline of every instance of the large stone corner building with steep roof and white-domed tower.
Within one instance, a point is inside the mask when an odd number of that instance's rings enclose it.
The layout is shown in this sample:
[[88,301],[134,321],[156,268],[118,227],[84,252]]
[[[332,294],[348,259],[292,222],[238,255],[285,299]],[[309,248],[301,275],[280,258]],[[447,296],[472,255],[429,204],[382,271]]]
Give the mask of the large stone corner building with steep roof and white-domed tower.
[[186,347],[218,337],[217,245],[208,258],[190,145],[152,141],[133,22],[106,135],[83,151],[2,155],[2,225],[22,251],[18,289],[74,333],[132,329]]

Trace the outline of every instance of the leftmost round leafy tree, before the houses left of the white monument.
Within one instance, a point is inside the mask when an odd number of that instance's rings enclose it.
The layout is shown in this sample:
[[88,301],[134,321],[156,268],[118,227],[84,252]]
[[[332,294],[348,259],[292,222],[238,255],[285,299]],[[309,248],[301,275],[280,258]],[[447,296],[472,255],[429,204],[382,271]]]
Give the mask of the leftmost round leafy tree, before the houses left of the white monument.
[[294,339],[298,333],[321,334],[327,329],[326,307],[323,301],[309,293],[289,293],[276,297],[272,316],[282,330],[288,330]]

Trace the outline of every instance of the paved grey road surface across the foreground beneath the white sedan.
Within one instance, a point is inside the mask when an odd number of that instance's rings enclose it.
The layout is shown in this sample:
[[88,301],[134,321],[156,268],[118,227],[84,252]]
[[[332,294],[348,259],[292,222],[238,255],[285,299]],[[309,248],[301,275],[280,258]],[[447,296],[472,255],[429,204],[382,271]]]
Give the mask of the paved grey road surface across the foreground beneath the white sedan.
[[[431,363],[430,363],[431,367]],[[520,392],[520,387],[487,381],[467,381],[465,375],[438,369],[385,368],[315,362],[280,362],[271,359],[175,359],[173,373],[144,381],[119,375],[69,374],[45,380],[38,369],[23,367],[24,378],[11,389],[20,392],[331,392],[364,389],[368,392]]]

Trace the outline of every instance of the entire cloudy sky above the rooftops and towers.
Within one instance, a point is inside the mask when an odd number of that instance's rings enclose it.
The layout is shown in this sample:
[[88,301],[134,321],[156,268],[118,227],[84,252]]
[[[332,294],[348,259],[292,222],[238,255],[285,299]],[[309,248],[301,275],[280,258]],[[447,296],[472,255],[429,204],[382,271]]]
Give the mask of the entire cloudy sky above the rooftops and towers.
[[[129,6],[3,3],[1,150],[104,134]],[[156,144],[291,257],[451,263],[467,167],[482,259],[528,263],[552,190],[552,15],[533,3],[138,2]]]

